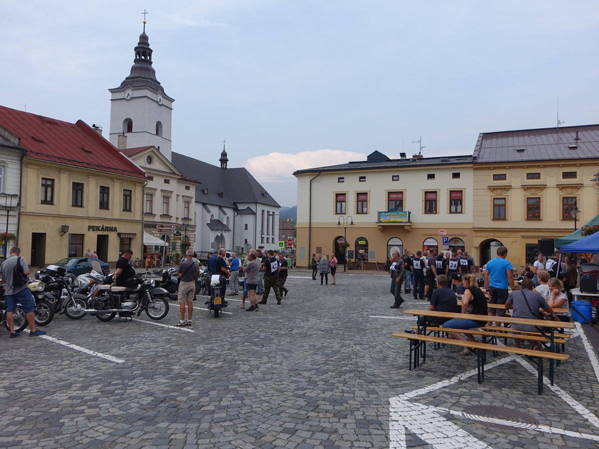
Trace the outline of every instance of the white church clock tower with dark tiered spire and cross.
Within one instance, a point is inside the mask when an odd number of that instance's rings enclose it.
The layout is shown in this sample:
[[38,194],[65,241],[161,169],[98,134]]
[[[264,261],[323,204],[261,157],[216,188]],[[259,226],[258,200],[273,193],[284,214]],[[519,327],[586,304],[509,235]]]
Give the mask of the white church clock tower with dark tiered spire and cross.
[[110,142],[119,150],[154,145],[171,160],[171,120],[174,99],[156,80],[146,20],[135,46],[131,73],[111,93]]

